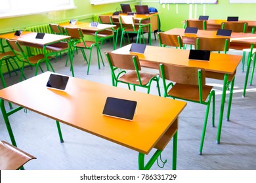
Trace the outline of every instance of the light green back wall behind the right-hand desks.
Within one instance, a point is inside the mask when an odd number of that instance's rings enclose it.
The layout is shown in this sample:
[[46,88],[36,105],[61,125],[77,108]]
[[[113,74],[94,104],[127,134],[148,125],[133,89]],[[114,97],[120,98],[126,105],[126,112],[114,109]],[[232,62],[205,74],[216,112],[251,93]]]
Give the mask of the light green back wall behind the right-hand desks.
[[[155,7],[160,12],[161,30],[167,31],[174,27],[182,27],[181,22],[187,18],[198,18],[200,15],[209,15],[210,19],[226,19],[227,16],[239,16],[240,20],[256,20],[255,4],[230,4],[229,0],[218,0],[215,4],[206,5],[188,5],[188,4],[169,4],[160,5],[158,1],[149,3],[148,0],[142,0],[142,5]],[[152,1],[151,1],[152,2]],[[189,13],[190,7],[192,11]],[[205,14],[203,10],[205,9]],[[190,17],[190,15],[192,17]]]

